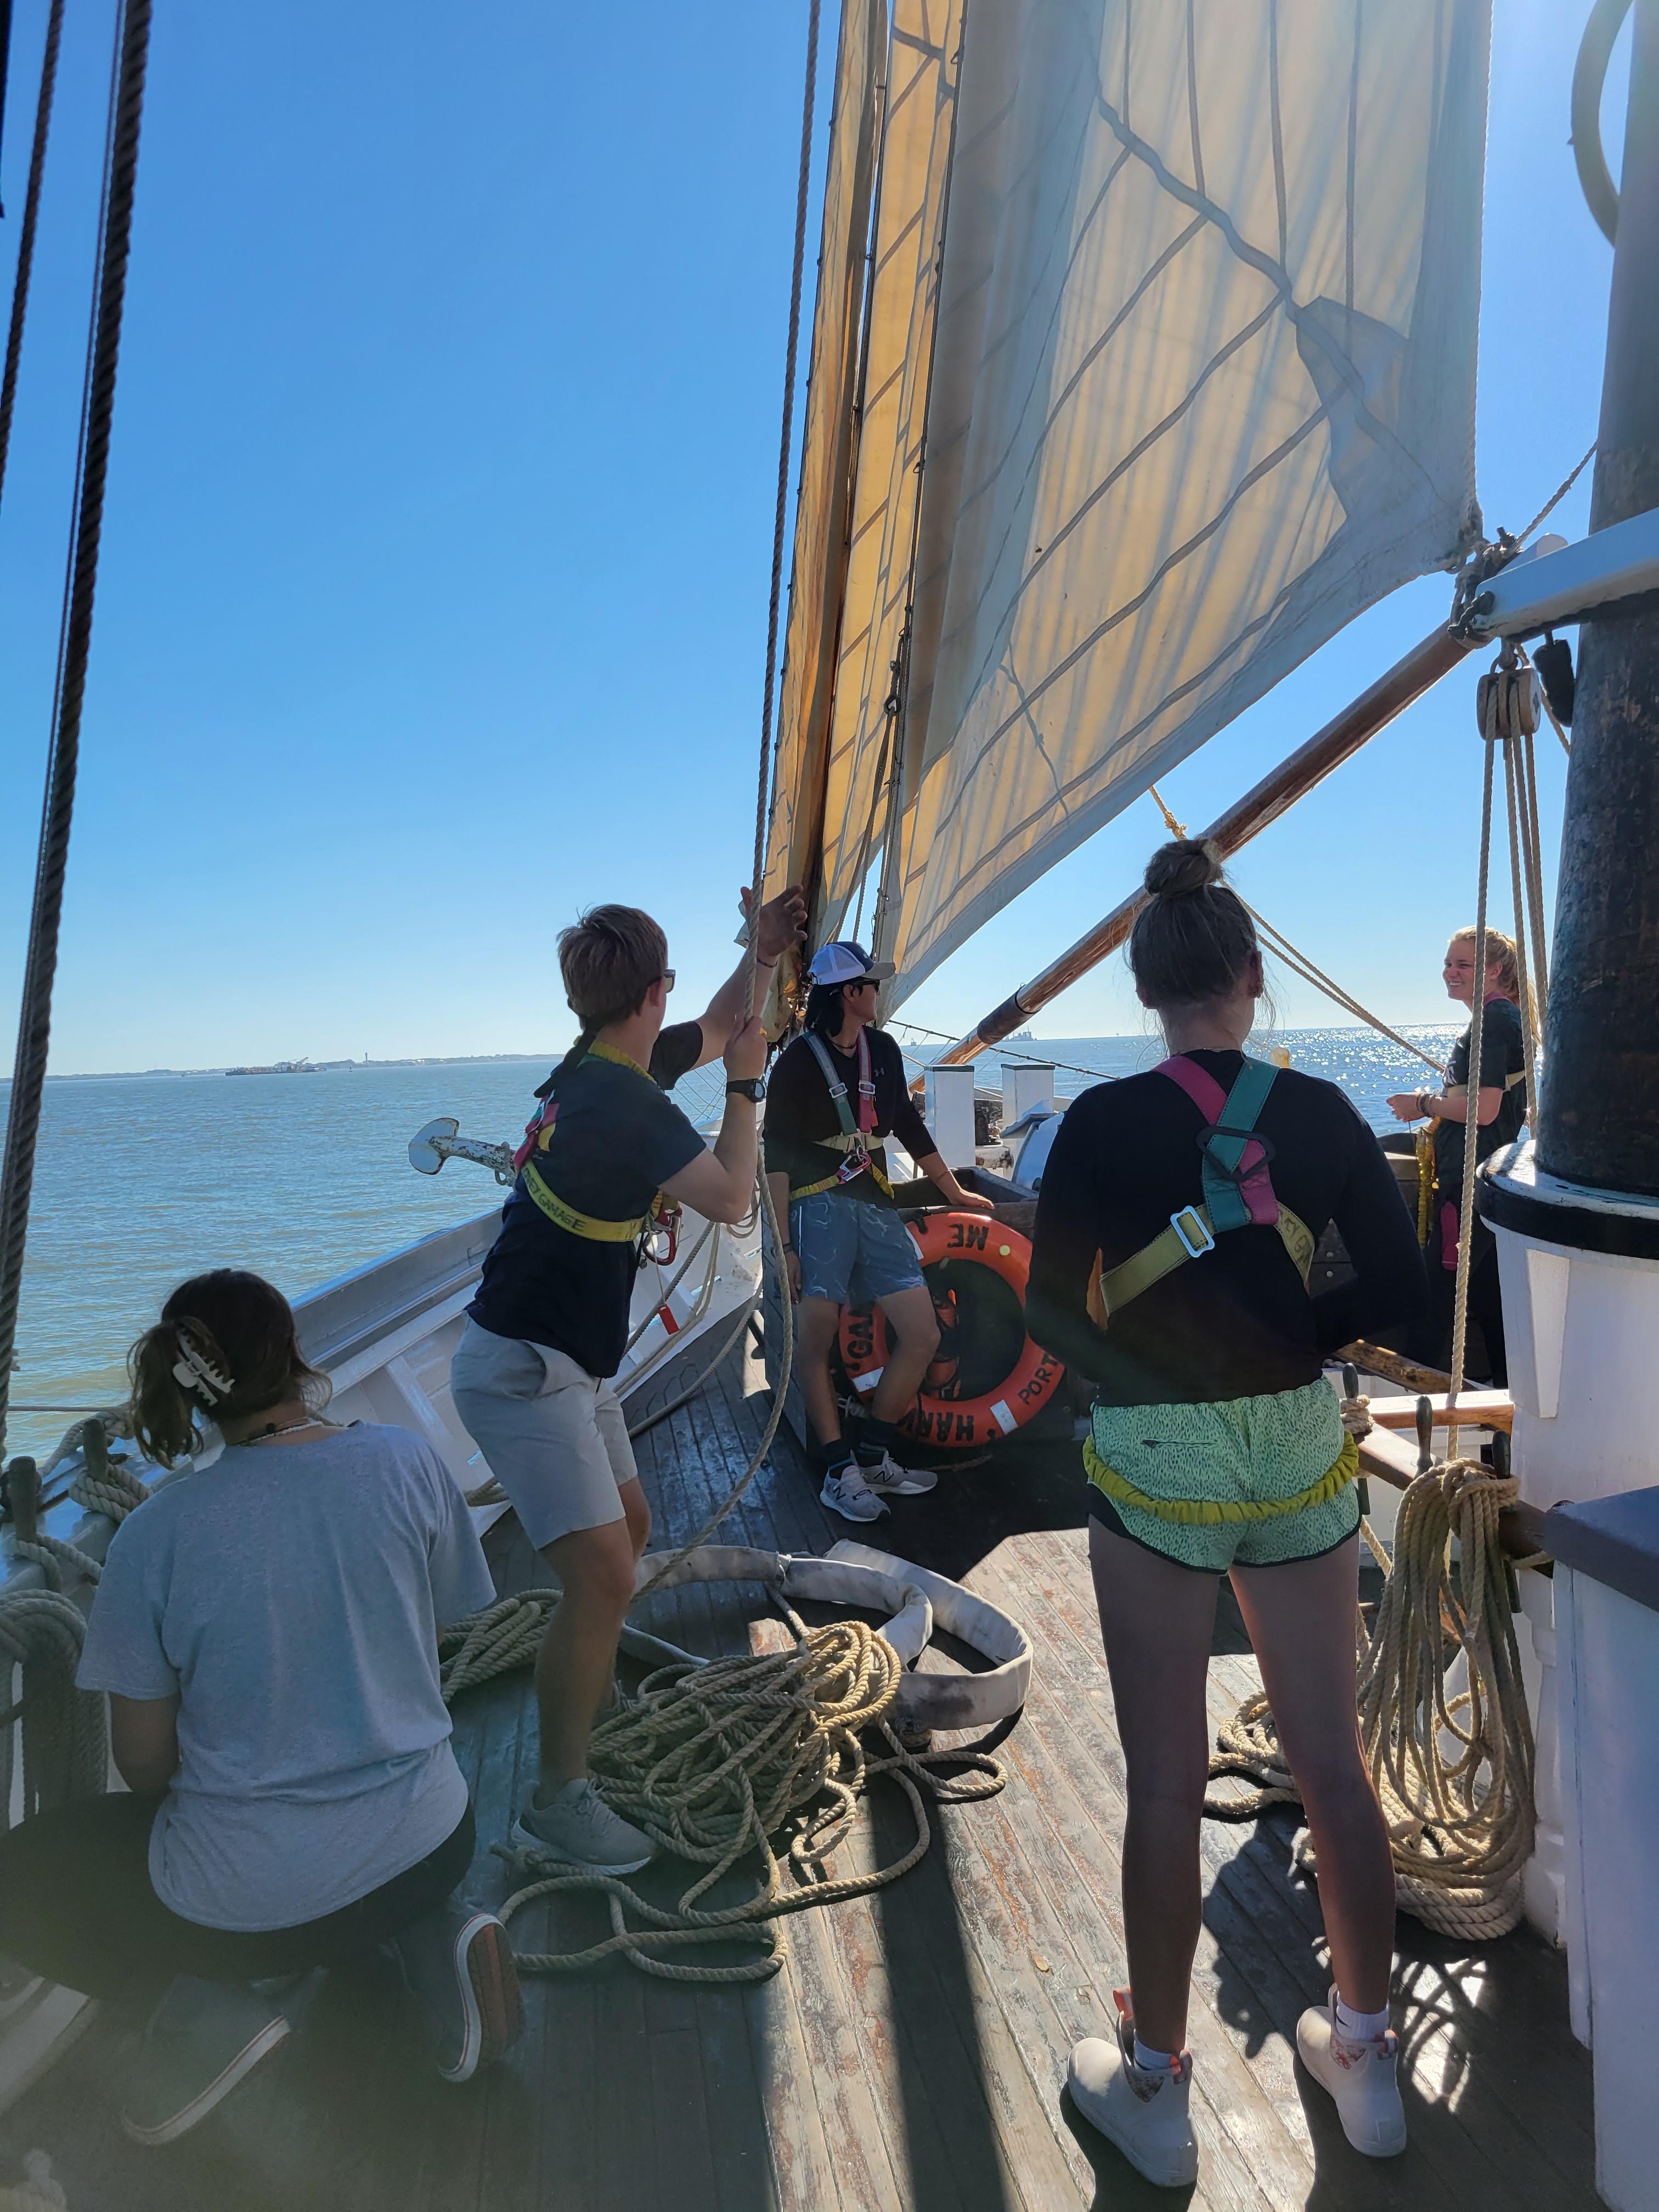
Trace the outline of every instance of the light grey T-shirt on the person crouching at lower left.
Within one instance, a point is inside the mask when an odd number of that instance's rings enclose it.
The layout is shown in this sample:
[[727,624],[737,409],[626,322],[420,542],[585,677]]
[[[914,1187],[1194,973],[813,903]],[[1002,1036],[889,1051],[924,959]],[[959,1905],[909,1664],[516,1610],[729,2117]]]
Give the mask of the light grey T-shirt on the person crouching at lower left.
[[434,1851],[467,1809],[438,1628],[493,1597],[456,1482],[407,1429],[230,1449],[122,1522],[77,1681],[179,1699],[161,1902],[299,1927]]

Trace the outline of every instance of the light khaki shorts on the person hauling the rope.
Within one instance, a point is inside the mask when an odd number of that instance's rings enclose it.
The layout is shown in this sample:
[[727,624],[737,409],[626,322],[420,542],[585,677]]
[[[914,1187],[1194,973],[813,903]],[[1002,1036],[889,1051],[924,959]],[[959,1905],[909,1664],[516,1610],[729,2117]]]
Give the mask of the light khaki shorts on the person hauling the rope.
[[568,1352],[495,1336],[469,1318],[449,1391],[538,1551],[622,1520],[622,1484],[637,1482],[639,1469],[611,1383]]

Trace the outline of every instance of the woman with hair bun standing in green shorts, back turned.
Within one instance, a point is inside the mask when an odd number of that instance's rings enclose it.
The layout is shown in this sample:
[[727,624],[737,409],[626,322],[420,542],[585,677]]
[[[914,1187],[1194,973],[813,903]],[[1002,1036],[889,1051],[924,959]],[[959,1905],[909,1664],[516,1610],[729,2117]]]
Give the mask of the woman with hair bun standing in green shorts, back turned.
[[[1128,1770],[1130,1991],[1115,2042],[1073,2051],[1071,2095],[1130,2163],[1177,2185],[1197,2174],[1183,2037],[1221,1575],[1318,1849],[1336,1986],[1296,2044],[1358,2150],[1405,2148],[1387,2011],[1394,1865],[1356,1725],[1356,1449],[1321,1363],[1413,1318],[1425,1281],[1416,1225],[1349,1099],[1243,1053],[1261,951],[1212,849],[1164,845],[1146,889],[1135,989],[1177,1057],[1066,1110],[1026,1312],[1097,1387],[1088,1553]],[[1314,1237],[1332,1219],[1356,1281],[1310,1298]]]

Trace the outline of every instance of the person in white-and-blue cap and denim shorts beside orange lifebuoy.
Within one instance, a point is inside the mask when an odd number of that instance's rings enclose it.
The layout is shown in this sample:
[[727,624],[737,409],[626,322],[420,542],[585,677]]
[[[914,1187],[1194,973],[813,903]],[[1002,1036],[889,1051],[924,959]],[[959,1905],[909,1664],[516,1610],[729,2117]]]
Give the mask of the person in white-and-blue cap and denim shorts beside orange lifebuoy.
[[[874,1026],[876,991],[891,967],[863,945],[823,945],[812,956],[805,1029],[779,1055],[768,1084],[765,1170],[779,1221],[790,1223],[783,1259],[801,1305],[796,1374],[818,1438],[823,1504],[843,1520],[872,1522],[887,1498],[931,1491],[938,1475],[900,1467],[898,1422],[916,1402],[938,1352],[938,1316],[909,1230],[887,1181],[883,1137],[894,1135],[947,1206],[989,1214],[991,1201],[962,1190],[905,1086],[905,1060]],[[869,1418],[852,1442],[830,1380],[843,1305],[874,1303],[894,1347]]]

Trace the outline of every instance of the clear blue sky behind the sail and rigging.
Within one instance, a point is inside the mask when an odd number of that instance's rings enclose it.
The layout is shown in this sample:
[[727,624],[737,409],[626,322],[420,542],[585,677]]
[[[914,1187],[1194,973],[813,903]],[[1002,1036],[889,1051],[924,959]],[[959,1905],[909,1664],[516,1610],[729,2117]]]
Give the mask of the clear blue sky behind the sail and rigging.
[[[46,0],[18,0],[0,283]],[[1480,495],[1595,436],[1610,248],[1566,142],[1579,0],[1495,0]],[[825,9],[834,18],[834,9]],[[157,9],[53,1068],[540,1051],[584,902],[734,958],[805,9]],[[0,515],[0,1029],[51,708],[108,0],[69,11]],[[1626,33],[1628,38],[1628,33]],[[1606,115],[1615,144],[1624,42]],[[823,117],[821,117],[823,119]],[[821,139],[818,139],[821,142]],[[1579,535],[1588,473],[1551,526]],[[1447,608],[1354,622],[1168,779],[1208,821]],[[1394,1020],[1473,911],[1473,666],[1237,878]],[[1546,847],[1564,761],[1542,754]],[[1133,885],[1139,801],[905,1009],[962,1029]],[[1298,984],[1287,1024],[1325,1020]],[[1139,1026],[1121,964],[1040,1033]]]

